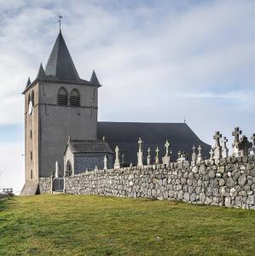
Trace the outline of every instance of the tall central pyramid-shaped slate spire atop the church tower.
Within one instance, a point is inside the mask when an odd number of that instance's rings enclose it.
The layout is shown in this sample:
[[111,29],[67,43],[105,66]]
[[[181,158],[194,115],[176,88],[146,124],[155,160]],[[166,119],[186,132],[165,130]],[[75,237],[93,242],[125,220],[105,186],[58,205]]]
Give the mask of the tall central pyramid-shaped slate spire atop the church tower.
[[49,55],[45,74],[46,76],[54,76],[58,79],[79,80],[78,72],[67,49],[67,44],[61,30]]

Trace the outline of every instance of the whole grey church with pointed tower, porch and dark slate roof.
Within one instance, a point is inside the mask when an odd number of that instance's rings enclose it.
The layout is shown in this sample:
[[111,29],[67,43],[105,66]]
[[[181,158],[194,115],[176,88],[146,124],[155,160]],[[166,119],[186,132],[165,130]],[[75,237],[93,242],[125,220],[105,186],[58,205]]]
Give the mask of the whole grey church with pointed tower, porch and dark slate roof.
[[[91,67],[92,68],[92,67]],[[107,86],[107,85],[106,85]],[[211,146],[203,143],[184,123],[100,122],[98,90],[101,83],[92,72],[81,79],[67,49],[61,30],[45,67],[41,64],[35,79],[28,79],[25,97],[25,178],[21,195],[35,195],[40,177],[50,177],[57,161],[59,174],[113,168],[118,145],[121,165],[136,165],[137,140],[143,148],[164,152],[165,140],[171,142],[172,157],[201,146],[208,154]]]

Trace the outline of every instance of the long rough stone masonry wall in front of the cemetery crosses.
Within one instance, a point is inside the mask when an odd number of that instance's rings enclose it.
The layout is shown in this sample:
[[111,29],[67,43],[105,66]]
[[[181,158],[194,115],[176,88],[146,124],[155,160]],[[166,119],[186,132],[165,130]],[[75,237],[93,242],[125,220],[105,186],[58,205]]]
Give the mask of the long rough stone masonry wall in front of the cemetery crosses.
[[84,172],[66,177],[66,192],[177,199],[194,204],[255,209],[255,157],[171,163]]

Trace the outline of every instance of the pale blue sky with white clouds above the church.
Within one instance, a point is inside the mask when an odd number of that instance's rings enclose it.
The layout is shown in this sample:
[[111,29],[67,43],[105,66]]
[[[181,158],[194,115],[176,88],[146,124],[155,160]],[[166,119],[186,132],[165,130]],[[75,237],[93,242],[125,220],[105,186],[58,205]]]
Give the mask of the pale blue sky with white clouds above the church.
[[204,142],[255,132],[255,1],[0,0],[0,188],[24,184],[24,96],[62,34],[96,70],[99,120],[183,122]]

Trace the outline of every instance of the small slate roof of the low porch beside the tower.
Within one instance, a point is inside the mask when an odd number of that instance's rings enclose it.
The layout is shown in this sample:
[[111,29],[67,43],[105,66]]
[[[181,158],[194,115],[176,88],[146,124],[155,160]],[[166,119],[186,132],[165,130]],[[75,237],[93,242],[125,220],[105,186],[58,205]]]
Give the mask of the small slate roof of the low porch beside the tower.
[[[91,141],[91,140],[69,140],[67,147],[70,148],[73,154],[109,154],[113,153],[108,143],[103,141]],[[67,147],[64,154],[67,151]]]

